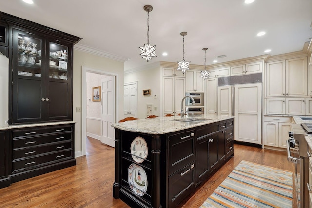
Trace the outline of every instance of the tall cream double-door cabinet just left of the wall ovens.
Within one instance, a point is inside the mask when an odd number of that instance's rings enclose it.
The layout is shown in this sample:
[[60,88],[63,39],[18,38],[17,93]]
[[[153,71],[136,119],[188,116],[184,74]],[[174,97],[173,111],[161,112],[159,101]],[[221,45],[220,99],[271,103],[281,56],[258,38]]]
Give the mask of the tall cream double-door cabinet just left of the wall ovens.
[[163,76],[163,115],[179,114],[184,96],[185,78]]

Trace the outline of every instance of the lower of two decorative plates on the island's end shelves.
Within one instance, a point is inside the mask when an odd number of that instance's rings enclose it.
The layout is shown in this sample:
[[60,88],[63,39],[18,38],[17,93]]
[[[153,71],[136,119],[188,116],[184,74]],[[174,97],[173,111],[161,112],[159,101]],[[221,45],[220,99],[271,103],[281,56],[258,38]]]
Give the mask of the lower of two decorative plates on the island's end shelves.
[[128,169],[128,182],[131,190],[139,196],[143,196],[147,190],[146,172],[141,166],[132,163]]

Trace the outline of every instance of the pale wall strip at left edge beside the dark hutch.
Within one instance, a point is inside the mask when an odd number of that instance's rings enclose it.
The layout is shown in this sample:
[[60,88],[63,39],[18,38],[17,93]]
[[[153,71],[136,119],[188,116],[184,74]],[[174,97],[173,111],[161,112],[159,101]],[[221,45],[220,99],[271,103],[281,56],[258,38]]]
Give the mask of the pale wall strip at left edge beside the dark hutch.
[[9,59],[0,53],[0,126],[9,119]]

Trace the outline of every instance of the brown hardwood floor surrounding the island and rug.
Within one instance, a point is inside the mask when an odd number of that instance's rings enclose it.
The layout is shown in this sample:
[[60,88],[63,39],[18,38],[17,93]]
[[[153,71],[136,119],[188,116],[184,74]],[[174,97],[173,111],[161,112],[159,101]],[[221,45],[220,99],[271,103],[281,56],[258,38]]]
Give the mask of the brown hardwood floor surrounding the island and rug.
[[[0,189],[0,208],[129,208],[112,197],[114,148],[87,139],[87,155],[77,165],[13,183]],[[286,152],[234,145],[232,157],[208,181],[196,188],[179,208],[198,208],[241,160],[293,170]],[[294,207],[294,206],[293,206]]]

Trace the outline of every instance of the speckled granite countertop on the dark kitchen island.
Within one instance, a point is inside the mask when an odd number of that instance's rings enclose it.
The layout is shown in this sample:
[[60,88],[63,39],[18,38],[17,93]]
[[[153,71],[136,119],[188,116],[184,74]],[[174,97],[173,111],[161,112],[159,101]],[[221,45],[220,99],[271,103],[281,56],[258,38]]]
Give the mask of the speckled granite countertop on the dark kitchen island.
[[[185,116],[186,118],[192,118],[191,116]],[[201,122],[181,122],[175,121],[176,119],[181,119],[180,116],[171,117],[156,117],[156,118],[146,118],[138,119],[132,121],[126,121],[122,123],[114,123],[112,127],[125,130],[129,132],[140,132],[149,134],[165,134],[170,132],[176,132],[184,129],[193,128],[196,126],[202,126],[205,124],[215,123],[222,120],[227,120],[234,118],[234,116],[225,115],[202,115],[196,116],[195,118],[205,118],[211,120],[205,120]]]

